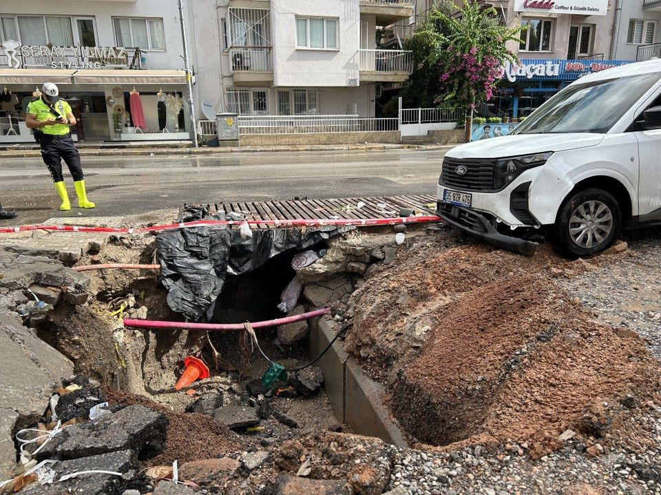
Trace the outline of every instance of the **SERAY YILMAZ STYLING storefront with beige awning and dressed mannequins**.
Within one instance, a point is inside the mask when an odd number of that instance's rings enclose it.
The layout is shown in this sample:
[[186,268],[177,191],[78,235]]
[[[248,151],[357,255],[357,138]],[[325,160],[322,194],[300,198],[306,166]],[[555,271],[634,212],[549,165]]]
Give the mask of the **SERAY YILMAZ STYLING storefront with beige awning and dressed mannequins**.
[[0,143],[34,142],[25,110],[47,81],[71,104],[75,140],[190,139],[184,71],[142,69],[142,54],[114,47],[12,43],[0,49]]

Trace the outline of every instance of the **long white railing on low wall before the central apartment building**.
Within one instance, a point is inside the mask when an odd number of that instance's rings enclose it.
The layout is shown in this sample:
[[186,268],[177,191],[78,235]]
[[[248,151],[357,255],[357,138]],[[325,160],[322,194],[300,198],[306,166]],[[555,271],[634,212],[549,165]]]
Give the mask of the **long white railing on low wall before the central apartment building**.
[[[240,135],[316,134],[399,131],[397,118],[360,118],[357,115],[240,115]],[[198,134],[216,135],[214,120],[198,120]]]

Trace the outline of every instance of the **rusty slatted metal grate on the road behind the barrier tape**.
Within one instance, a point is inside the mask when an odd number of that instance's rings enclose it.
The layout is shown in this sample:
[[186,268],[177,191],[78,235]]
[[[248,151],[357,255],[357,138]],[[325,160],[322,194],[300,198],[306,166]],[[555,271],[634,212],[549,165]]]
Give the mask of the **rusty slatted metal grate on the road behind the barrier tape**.
[[[358,203],[365,203],[357,208]],[[433,206],[426,206],[431,205]],[[423,214],[435,214],[434,195],[397,197],[291,199],[289,201],[246,201],[245,203],[214,203],[204,205],[211,214],[236,212],[246,220],[296,220],[296,219],[370,219],[399,216],[401,208],[410,208]],[[191,206],[191,205],[187,205]],[[202,206],[202,205],[193,205]],[[179,221],[185,207],[180,207]],[[268,228],[260,225],[260,228]]]

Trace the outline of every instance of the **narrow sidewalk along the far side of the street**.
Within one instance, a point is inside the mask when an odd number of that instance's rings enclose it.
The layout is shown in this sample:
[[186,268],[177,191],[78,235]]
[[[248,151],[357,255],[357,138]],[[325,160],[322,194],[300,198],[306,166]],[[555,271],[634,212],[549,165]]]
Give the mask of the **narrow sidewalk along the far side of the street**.
[[[297,152],[297,151],[384,151],[397,149],[439,149],[452,148],[452,145],[419,145],[419,144],[345,144],[345,145],[303,145],[303,146],[239,146],[234,148],[207,147],[200,148],[180,147],[180,146],[127,146],[125,148],[117,147],[87,147],[78,146],[81,156],[117,156],[120,153],[123,156],[155,156],[155,155],[217,155],[224,153],[274,153],[279,151]],[[0,159],[2,158],[36,158],[41,157],[39,148],[30,146],[12,146],[5,149],[0,148]]]

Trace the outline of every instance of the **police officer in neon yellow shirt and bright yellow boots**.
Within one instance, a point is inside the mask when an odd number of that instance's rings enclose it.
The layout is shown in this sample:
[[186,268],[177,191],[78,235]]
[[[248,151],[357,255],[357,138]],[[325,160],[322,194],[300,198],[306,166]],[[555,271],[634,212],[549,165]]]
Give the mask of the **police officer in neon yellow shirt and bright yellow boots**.
[[62,162],[69,167],[74,178],[79,208],[94,208],[94,203],[87,199],[85,177],[81,168],[81,155],[71,139],[69,126],[76,125],[76,118],[65,100],[58,97],[59,90],[53,83],[45,83],[41,96],[28,104],[25,124],[34,129],[34,135],[41,145],[41,157],[53,177],[55,188],[62,203],[60,210],[71,209],[67,186],[62,176]]

